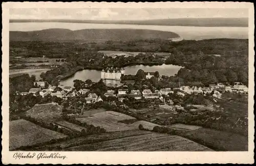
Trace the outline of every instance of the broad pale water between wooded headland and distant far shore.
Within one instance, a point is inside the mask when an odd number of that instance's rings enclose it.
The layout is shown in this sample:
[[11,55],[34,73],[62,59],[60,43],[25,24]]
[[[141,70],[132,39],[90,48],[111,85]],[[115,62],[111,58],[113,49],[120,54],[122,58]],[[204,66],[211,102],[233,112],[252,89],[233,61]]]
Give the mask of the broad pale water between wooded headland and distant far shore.
[[185,40],[214,38],[248,39],[248,27],[148,26],[68,22],[11,22],[9,25],[10,31],[38,31],[50,28],[63,28],[73,31],[81,29],[147,29],[174,32]]

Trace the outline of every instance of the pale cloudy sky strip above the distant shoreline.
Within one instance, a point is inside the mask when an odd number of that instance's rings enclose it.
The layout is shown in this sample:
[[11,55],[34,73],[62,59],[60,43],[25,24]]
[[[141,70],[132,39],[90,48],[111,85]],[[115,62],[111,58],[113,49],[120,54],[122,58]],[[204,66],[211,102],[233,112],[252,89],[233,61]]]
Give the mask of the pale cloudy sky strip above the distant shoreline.
[[145,20],[166,18],[240,18],[248,9],[214,8],[12,8],[10,19]]

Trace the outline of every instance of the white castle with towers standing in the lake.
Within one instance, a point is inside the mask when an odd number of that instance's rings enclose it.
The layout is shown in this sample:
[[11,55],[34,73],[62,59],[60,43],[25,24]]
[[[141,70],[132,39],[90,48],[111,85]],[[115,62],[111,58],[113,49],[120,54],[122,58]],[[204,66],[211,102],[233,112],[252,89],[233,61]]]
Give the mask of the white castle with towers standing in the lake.
[[123,68],[107,67],[101,71],[101,79],[103,80],[121,80],[121,76],[124,75]]

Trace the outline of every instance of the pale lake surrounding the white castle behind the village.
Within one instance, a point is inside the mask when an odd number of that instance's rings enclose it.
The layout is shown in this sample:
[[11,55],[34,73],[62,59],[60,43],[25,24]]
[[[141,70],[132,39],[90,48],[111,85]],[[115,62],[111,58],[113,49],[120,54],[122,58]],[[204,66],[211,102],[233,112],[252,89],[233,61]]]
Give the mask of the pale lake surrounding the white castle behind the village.
[[[125,75],[136,75],[139,69],[144,70],[144,72],[156,72],[158,71],[160,75],[165,76],[174,76],[178,73],[178,71],[182,68],[182,66],[172,65],[172,64],[162,64],[162,65],[155,65],[155,66],[144,66],[144,65],[136,65],[136,66],[127,66],[124,67]],[[73,80],[82,80],[86,81],[87,79],[92,80],[93,82],[98,82],[100,80],[100,72],[98,70],[89,70],[84,69],[81,71],[76,72],[72,77],[62,80],[60,85],[63,86],[71,86],[74,87]],[[109,86],[121,85],[120,81],[115,80],[104,80],[105,84]]]

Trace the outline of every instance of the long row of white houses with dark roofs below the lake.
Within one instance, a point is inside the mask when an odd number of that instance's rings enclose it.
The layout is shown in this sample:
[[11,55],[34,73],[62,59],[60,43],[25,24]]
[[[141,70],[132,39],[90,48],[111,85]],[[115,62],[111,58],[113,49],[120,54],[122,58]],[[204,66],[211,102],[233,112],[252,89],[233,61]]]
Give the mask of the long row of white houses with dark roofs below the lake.
[[[150,79],[150,73],[146,75],[146,79]],[[48,87],[46,87],[48,85]],[[85,100],[87,103],[94,103],[102,101],[100,96],[97,96],[96,93],[88,93],[92,89],[90,89],[90,84],[87,84],[88,89],[79,89],[76,90],[71,86],[51,86],[45,81],[36,81],[34,82],[34,86],[36,88],[31,88],[28,92],[19,92],[16,91],[16,94],[20,94],[22,96],[27,95],[29,93],[33,93],[33,95],[41,96],[42,98],[51,95],[56,96],[58,98],[62,98],[67,100],[71,97],[81,96],[82,94],[87,94]],[[248,94],[248,87],[243,85],[240,82],[235,82],[234,85],[217,83],[217,84],[210,84],[209,87],[197,87],[197,86],[180,86],[177,88],[161,88],[160,90],[150,90],[146,89],[146,85],[144,85],[144,89],[142,91],[138,89],[132,89],[129,93],[129,89],[127,85],[123,85],[122,88],[115,88],[114,90],[107,90],[104,93],[106,98],[108,97],[116,97],[119,101],[123,101],[123,99],[127,97],[134,98],[136,100],[145,98],[145,99],[160,99],[162,102],[164,101],[163,95],[168,96],[169,93],[177,93],[180,96],[185,96],[185,94],[203,94],[206,96],[207,94],[211,94],[214,98],[221,98],[222,93],[224,92],[231,92],[231,93],[243,93]]]

